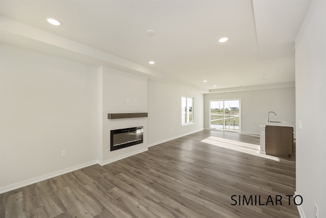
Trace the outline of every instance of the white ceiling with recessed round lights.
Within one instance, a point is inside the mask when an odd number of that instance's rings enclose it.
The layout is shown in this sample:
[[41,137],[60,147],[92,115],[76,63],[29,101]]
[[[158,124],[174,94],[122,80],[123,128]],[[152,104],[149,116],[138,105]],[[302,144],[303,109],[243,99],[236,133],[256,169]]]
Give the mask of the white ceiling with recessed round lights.
[[[2,41],[13,43],[17,37],[14,43],[19,44],[19,37],[33,38],[31,32],[35,32],[39,38],[33,40],[42,41],[40,46],[53,45],[47,51],[55,51],[56,46],[68,51],[76,42],[102,52],[105,58],[117,56],[117,67],[132,65],[145,74],[178,78],[205,91],[286,83],[294,81],[294,39],[310,2],[0,0]],[[59,19],[62,26],[49,25],[45,17]],[[156,34],[148,36],[149,29]],[[40,39],[42,34],[36,33],[41,30],[64,37],[67,43],[56,45],[46,34]],[[230,40],[219,43],[223,36]],[[113,62],[110,58],[106,58],[108,65]],[[150,60],[155,64],[148,64]]]

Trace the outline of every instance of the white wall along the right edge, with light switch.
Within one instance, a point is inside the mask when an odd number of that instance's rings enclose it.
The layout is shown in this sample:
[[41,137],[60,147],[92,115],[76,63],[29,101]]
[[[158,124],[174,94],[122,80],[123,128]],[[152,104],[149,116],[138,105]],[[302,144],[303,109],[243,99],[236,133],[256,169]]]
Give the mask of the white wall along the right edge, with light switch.
[[326,217],[325,54],[326,2],[313,0],[295,40],[296,193],[306,217],[314,217],[315,203]]

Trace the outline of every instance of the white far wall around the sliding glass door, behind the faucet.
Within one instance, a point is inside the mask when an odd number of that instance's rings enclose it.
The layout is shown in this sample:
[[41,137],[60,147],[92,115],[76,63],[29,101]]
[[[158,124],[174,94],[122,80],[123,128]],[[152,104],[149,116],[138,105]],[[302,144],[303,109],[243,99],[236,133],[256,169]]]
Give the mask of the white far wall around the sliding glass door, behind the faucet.
[[205,94],[205,129],[209,129],[209,100],[241,99],[241,132],[259,134],[259,124],[266,123],[266,114],[271,120],[282,120],[295,125],[295,89],[277,88],[252,91],[235,91]]

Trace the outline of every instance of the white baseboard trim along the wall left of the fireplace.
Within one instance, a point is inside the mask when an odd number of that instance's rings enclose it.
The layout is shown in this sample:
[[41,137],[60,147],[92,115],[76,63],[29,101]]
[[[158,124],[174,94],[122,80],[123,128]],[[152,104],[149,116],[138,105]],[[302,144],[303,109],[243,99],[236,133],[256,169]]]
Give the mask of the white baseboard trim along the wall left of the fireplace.
[[98,161],[93,160],[93,161],[90,161],[90,162],[87,162],[87,163],[82,163],[82,164],[79,164],[79,165],[76,165],[76,166],[71,166],[71,167],[68,167],[68,168],[65,168],[65,169],[61,169],[60,171],[56,171],[56,172],[53,172],[53,173],[45,174],[45,175],[38,176],[38,177],[35,177],[35,178],[32,178],[32,179],[28,179],[28,180],[25,180],[25,181],[21,181],[21,182],[17,182],[17,183],[11,184],[11,185],[0,187],[0,194],[5,193],[7,191],[17,189],[17,188],[24,187],[26,185],[31,185],[31,184],[41,182],[41,181],[46,180],[46,179],[50,179],[50,178],[53,178],[53,177],[56,177],[56,176],[60,176],[60,175],[66,174],[66,173],[70,173],[72,171],[76,171],[77,169],[85,168],[87,166],[91,166],[91,165],[94,165],[96,163],[98,163]]

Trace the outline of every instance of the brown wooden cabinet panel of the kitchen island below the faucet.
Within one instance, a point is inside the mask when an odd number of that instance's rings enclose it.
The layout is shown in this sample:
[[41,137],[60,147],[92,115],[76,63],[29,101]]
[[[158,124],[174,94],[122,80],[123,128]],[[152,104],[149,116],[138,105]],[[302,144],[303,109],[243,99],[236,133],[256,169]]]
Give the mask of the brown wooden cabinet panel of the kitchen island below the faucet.
[[266,126],[265,150],[273,156],[293,154],[293,127]]

